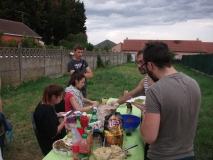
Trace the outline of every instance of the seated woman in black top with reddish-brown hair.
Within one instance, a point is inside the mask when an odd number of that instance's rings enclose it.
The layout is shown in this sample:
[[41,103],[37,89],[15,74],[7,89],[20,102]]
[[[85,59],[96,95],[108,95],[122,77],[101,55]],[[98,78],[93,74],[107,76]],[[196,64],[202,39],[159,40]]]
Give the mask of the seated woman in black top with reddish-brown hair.
[[43,98],[34,112],[34,119],[38,133],[47,151],[52,150],[52,144],[64,138],[66,130],[64,121],[59,122],[53,106],[58,104],[64,94],[64,88],[58,84],[51,84],[44,89]]

